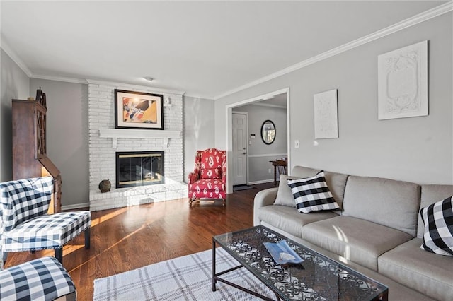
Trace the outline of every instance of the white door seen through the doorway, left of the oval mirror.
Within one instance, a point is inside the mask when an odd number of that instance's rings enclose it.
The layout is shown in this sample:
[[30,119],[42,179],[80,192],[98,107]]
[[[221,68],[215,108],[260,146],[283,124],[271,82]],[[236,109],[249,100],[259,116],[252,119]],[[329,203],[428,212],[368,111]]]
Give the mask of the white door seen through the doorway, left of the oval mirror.
[[247,184],[247,115],[233,113],[233,185]]

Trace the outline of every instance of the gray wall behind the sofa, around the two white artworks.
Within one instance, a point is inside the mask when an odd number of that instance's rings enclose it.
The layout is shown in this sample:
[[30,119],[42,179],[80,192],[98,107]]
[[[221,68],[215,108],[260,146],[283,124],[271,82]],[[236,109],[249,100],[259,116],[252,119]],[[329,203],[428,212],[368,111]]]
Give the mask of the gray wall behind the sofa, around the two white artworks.
[[[377,56],[422,40],[429,40],[429,116],[378,121]],[[226,106],[289,87],[292,166],[452,184],[452,53],[450,12],[228,95],[215,102],[215,144],[226,148]],[[335,88],[339,138],[314,141],[313,95]]]

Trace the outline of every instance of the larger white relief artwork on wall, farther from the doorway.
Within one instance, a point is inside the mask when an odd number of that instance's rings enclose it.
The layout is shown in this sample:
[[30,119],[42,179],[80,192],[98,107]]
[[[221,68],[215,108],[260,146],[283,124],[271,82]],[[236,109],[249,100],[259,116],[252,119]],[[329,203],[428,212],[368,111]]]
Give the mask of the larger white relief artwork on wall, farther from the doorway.
[[428,115],[428,40],[377,57],[379,120]]

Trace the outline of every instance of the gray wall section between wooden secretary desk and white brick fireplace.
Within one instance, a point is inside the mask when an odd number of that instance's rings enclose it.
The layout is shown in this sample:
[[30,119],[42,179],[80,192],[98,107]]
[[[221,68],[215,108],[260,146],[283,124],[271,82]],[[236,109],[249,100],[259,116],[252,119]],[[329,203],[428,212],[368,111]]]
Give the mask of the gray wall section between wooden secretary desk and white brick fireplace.
[[47,156],[62,173],[62,206],[89,202],[88,85],[30,79],[47,100]]

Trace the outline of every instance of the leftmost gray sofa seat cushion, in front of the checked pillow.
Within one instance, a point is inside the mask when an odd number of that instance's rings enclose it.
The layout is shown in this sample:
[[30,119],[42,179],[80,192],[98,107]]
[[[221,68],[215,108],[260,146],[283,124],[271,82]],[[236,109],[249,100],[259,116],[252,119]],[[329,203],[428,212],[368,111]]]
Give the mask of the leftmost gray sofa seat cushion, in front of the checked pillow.
[[259,220],[297,237],[302,237],[302,226],[335,216],[338,215],[329,211],[300,214],[296,208],[276,205],[264,206],[258,210]]

